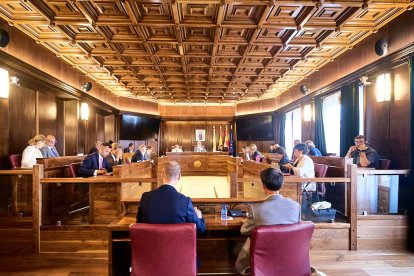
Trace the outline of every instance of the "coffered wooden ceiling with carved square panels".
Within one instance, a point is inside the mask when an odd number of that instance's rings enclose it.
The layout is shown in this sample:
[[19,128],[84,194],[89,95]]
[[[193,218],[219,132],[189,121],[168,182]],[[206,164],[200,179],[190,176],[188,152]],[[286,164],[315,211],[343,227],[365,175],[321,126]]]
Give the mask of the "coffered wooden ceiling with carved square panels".
[[0,13],[116,95],[238,103],[277,97],[413,5],[1,0]]

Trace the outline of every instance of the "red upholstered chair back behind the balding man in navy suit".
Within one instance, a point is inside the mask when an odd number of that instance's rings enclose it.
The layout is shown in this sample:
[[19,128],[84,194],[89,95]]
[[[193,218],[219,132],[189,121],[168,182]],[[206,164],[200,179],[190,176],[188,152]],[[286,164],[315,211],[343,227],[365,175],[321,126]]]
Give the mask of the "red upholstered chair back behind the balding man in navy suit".
[[129,234],[132,276],[197,275],[194,223],[135,223]]

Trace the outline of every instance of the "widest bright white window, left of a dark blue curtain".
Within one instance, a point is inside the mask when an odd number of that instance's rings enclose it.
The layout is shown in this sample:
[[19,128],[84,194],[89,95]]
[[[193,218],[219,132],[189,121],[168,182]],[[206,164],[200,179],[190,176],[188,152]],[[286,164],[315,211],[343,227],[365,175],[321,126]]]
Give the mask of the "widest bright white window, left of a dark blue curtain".
[[323,127],[325,132],[326,152],[340,155],[341,137],[341,92],[323,98]]

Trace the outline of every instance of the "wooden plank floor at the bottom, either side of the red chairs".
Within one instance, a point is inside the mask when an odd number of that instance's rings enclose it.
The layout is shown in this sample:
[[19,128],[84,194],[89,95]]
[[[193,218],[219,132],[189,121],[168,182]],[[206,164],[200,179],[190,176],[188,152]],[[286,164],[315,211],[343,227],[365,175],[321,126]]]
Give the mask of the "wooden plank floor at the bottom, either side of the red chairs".
[[[107,261],[105,254],[93,253],[0,255],[0,275],[107,275]],[[334,276],[414,275],[414,254],[404,251],[312,250],[311,263]]]

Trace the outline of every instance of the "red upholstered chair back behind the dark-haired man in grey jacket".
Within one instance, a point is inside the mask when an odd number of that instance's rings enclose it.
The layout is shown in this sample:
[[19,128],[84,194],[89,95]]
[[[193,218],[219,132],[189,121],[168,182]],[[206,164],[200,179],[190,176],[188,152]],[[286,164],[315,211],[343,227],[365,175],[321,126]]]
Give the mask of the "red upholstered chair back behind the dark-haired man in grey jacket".
[[310,221],[256,227],[250,243],[252,275],[311,275],[309,244],[314,228]]

